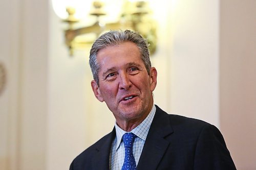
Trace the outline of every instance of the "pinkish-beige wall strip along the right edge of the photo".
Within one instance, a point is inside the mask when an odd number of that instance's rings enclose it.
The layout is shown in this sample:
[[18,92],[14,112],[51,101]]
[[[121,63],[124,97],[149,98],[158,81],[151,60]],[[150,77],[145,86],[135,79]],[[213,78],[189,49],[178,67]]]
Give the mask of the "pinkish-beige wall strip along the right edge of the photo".
[[256,1],[220,1],[220,127],[238,169],[256,169]]

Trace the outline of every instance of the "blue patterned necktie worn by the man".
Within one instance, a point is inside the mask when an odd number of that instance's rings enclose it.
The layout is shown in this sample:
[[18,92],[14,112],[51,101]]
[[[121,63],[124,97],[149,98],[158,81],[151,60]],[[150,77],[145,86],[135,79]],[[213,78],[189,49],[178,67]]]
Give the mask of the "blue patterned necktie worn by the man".
[[133,156],[133,142],[136,137],[133,133],[125,133],[122,137],[125,149],[122,170],[136,170],[136,162]]

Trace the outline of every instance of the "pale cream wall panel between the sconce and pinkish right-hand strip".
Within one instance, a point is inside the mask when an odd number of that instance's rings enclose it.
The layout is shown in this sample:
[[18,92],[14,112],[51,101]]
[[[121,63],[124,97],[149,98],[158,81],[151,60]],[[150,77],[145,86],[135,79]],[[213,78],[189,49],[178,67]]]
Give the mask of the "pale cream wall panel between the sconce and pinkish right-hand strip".
[[175,2],[169,19],[172,112],[219,127],[219,2]]

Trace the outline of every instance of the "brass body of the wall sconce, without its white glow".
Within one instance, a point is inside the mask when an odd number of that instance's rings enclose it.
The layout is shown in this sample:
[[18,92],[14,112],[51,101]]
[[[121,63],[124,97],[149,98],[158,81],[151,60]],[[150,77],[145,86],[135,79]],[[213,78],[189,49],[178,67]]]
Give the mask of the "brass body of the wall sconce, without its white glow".
[[[156,21],[151,17],[151,11],[144,1],[126,1],[118,21],[110,23],[103,23],[101,20],[104,19],[102,17],[107,15],[103,10],[103,3],[94,1],[90,15],[96,18],[95,22],[91,26],[82,28],[75,28],[75,24],[79,22],[74,16],[75,9],[67,7],[66,10],[68,12],[68,17],[63,21],[68,24],[68,29],[65,30],[65,38],[70,56],[74,55],[75,49],[85,48],[86,46],[92,45],[93,41],[100,34],[108,30],[124,29],[140,33],[143,37],[147,38],[150,43],[151,54],[154,54],[156,51]],[[86,36],[89,34],[91,36]]]

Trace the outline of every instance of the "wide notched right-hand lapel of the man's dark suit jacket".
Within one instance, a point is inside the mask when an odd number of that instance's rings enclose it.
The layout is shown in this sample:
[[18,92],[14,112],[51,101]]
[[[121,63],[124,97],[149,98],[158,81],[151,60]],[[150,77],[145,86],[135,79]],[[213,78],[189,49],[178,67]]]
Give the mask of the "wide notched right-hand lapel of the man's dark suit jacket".
[[156,114],[151,124],[148,135],[140,156],[138,169],[157,169],[166,149],[169,146],[169,141],[164,137],[173,133],[172,126],[167,113],[156,106]]

